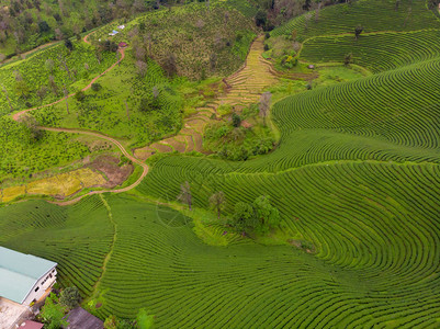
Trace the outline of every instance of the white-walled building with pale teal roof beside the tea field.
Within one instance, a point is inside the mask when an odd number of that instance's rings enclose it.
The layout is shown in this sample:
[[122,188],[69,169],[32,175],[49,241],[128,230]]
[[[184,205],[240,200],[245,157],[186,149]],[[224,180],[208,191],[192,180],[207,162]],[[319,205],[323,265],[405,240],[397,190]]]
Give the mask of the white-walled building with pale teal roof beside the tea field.
[[38,300],[56,281],[57,263],[0,247],[0,297],[21,305]]

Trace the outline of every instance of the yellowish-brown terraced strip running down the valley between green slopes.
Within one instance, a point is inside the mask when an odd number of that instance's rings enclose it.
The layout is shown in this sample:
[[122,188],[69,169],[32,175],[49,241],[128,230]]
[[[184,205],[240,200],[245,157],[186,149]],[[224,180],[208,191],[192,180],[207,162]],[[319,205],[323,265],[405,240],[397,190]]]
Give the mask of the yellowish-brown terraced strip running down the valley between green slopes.
[[[158,152],[203,152],[204,127],[217,120],[217,109],[221,105],[230,105],[237,110],[259,101],[261,93],[268,87],[278,82],[271,64],[261,57],[264,36],[259,36],[252,43],[245,66],[236,73],[224,80],[227,89],[214,102],[199,107],[196,114],[184,120],[183,129],[173,137],[154,143],[135,150],[135,156],[147,159]],[[213,118],[214,117],[214,118]]]

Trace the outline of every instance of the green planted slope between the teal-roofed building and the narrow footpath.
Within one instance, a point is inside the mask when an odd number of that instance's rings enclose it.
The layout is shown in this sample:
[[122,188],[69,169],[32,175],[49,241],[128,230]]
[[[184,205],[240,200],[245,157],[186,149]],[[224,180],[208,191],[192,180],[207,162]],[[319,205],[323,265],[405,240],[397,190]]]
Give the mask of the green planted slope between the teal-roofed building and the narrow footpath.
[[44,201],[0,208],[0,243],[58,263],[58,281],[93,292],[110,251],[114,227],[99,197],[60,207]]

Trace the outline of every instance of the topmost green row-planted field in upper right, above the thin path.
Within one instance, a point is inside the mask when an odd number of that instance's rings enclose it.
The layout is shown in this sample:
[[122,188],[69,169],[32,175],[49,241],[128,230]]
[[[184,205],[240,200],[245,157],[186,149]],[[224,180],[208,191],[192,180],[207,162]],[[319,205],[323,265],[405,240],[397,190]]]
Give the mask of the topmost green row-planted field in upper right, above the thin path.
[[428,10],[427,1],[413,0],[368,0],[353,1],[323,8],[297,16],[275,29],[271,36],[292,35],[295,31],[298,42],[313,36],[350,33],[363,26],[365,32],[413,31],[438,29],[439,21]]

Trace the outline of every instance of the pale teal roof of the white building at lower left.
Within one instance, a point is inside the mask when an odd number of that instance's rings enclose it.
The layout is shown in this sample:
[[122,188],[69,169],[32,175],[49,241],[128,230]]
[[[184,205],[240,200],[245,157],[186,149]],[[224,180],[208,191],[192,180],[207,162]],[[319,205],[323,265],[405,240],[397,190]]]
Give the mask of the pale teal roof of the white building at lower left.
[[0,247],[0,296],[23,303],[34,284],[57,264]]

